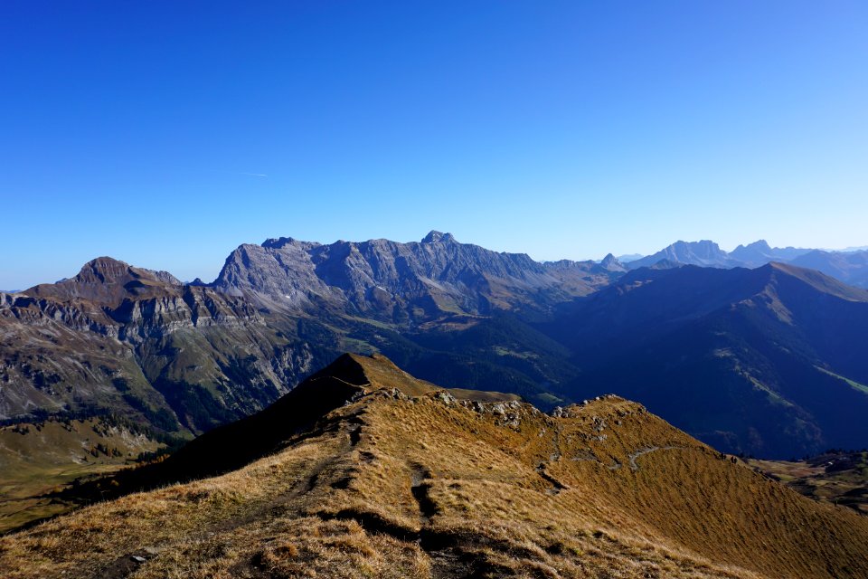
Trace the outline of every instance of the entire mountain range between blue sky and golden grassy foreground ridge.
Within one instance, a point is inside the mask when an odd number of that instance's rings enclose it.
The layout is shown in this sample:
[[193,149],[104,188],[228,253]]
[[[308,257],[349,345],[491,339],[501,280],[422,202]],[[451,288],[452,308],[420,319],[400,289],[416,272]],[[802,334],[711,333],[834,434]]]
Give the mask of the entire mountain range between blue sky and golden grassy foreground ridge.
[[448,233],[285,237],[186,285],[99,258],[0,295],[0,417],[122,414],[189,436],[353,351],[543,408],[624,393],[725,451],[863,446],[863,421],[834,418],[868,412],[868,291],[839,281],[860,283],[863,257],[677,242],[627,264],[541,263]]

